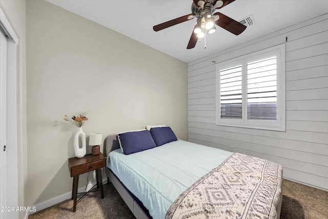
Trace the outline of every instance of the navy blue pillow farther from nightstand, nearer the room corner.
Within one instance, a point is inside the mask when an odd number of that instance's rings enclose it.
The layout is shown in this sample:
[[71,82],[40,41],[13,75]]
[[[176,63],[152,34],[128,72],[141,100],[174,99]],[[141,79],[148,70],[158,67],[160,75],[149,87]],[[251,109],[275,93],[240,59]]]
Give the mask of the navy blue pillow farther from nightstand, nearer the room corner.
[[156,127],[151,128],[150,133],[152,134],[156,146],[176,141],[177,138],[170,127]]

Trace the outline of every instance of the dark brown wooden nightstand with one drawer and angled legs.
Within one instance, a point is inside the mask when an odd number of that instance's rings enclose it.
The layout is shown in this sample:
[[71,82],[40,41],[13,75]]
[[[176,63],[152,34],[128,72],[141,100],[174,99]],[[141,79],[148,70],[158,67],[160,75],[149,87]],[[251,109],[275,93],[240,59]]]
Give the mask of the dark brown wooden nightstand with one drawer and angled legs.
[[[68,168],[73,177],[72,200],[74,199],[73,212],[76,211],[78,176],[96,170],[97,189],[100,186],[101,198],[104,198],[103,177],[100,168],[106,166],[106,156],[99,153],[98,155],[87,154],[82,158],[72,157],[68,159]],[[100,183],[99,183],[100,182]]]

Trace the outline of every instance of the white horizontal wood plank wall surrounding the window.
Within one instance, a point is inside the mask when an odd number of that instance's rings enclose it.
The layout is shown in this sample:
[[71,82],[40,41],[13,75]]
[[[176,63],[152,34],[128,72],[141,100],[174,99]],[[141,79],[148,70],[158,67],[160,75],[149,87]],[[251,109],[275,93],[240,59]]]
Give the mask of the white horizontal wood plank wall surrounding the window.
[[[283,43],[286,131],[215,125],[213,62]],[[328,14],[188,63],[188,138],[278,162],[284,178],[328,190]]]

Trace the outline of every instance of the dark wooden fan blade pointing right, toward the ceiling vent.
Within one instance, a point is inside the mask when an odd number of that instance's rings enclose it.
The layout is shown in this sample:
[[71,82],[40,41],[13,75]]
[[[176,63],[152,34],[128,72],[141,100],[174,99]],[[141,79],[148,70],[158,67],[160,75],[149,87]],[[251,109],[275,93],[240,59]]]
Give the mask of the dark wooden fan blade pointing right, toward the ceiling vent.
[[246,29],[245,25],[240,24],[239,22],[220,12],[216,12],[213,15],[219,15],[219,19],[215,22],[217,26],[220,26],[235,35],[239,35]]

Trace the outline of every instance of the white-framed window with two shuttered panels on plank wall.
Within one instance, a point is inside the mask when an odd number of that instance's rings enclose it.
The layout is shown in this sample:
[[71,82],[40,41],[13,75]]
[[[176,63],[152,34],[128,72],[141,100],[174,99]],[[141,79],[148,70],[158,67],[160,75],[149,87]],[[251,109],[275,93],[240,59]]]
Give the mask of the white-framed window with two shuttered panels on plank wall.
[[216,65],[217,125],[285,131],[284,45]]

